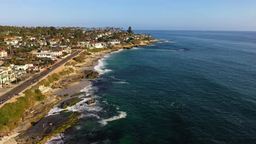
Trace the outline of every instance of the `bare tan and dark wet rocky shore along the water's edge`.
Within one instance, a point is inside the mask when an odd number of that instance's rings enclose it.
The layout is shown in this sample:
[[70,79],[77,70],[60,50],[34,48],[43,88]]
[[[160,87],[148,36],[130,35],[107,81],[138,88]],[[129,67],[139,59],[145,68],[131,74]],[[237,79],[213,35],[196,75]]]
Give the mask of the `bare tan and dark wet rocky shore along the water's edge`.
[[[21,119],[21,124],[19,124],[14,130],[8,131],[6,128],[5,131],[1,131],[3,135],[19,134],[18,136],[5,141],[5,143],[44,143],[55,134],[62,133],[62,131],[68,129],[74,124],[77,124],[79,122],[77,116],[80,115],[78,112],[65,110],[57,115],[45,117],[55,106],[60,106],[61,104],[62,108],[65,109],[68,106],[77,104],[80,100],[76,97],[77,95],[75,95],[75,93],[79,93],[81,89],[75,89],[77,92],[74,91],[72,93],[60,93],[60,91],[62,89],[65,89],[63,91],[66,91],[69,87],[73,88],[72,85],[75,85],[75,83],[80,80],[96,79],[100,76],[96,71],[88,69],[91,69],[91,67],[93,67],[93,65],[107,53],[118,51],[120,49],[132,49],[133,47],[138,46],[148,46],[151,43],[158,42],[163,41],[143,41],[141,44],[137,45],[125,45],[121,47],[114,47],[114,49],[110,50],[95,52],[92,55],[85,55],[83,63],[70,60],[70,63],[73,63],[73,66],[58,68],[58,70],[55,70],[55,74],[48,77],[48,80],[39,81],[38,85],[32,88],[32,91],[39,89],[42,94],[46,95],[46,98],[43,101],[34,103],[30,109],[27,109],[25,115]],[[74,70],[72,71],[72,69]],[[61,75],[63,73],[61,71],[69,72]],[[46,86],[47,82],[48,84]],[[49,82],[51,83],[49,84]],[[87,83],[86,85],[90,85],[90,83]],[[59,93],[56,93],[56,91],[59,91]],[[86,102],[88,105],[92,103],[95,103],[95,100],[89,100]],[[46,127],[46,125],[48,126]]]

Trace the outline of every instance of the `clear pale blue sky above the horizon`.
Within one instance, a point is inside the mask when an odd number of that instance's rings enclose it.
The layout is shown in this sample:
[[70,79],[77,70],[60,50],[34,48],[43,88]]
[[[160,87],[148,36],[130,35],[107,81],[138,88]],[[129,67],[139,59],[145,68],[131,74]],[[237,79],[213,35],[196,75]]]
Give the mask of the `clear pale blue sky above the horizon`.
[[256,0],[0,1],[0,25],[256,31]]

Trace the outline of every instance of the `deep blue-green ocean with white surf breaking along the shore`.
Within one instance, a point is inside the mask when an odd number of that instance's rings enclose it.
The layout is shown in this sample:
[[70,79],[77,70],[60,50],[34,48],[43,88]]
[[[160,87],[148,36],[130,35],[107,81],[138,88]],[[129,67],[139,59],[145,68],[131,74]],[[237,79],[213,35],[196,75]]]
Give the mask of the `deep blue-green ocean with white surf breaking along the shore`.
[[135,32],[166,42],[104,56],[47,143],[256,143],[256,32]]

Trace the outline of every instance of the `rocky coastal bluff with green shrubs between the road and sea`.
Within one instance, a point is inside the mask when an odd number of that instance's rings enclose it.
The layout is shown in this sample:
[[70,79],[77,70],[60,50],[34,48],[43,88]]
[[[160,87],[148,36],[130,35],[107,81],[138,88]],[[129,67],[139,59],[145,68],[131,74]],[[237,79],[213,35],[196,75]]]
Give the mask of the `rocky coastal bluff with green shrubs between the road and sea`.
[[[3,116],[0,120],[0,134],[11,135],[19,133],[19,135],[15,137],[16,142],[19,143],[43,143],[50,139],[54,134],[62,133],[62,131],[71,127],[71,125],[79,122],[79,119],[75,119],[73,114],[71,116],[71,113],[69,113],[70,115],[60,113],[58,114],[60,117],[65,115],[69,118],[67,118],[67,121],[56,123],[60,123],[62,126],[68,125],[67,127],[63,126],[60,129],[59,127],[55,129],[50,128],[47,129],[47,133],[45,133],[45,131],[40,132],[39,130],[37,131],[37,134],[40,135],[44,133],[44,136],[33,135],[33,137],[36,137],[33,140],[28,138],[31,136],[34,128],[41,126],[40,123],[44,121],[48,111],[54,106],[59,106],[61,101],[68,96],[68,94],[53,94],[56,89],[66,88],[72,83],[78,82],[82,79],[95,79],[100,76],[96,71],[87,69],[92,67],[94,63],[96,63],[98,59],[106,53],[114,52],[119,49],[132,49],[132,47],[147,46],[150,43],[158,42],[161,41],[155,39],[139,42],[134,41],[134,43],[114,46],[112,49],[102,49],[101,51],[95,52],[85,51],[80,53],[80,55],[65,64],[67,67],[61,66],[57,68],[54,71],[54,74],[49,75],[30,89],[27,89],[24,93],[24,97],[18,98],[14,103],[5,104],[0,109],[1,116]],[[91,101],[89,103],[91,103]],[[15,109],[12,108],[14,106]],[[9,113],[14,113],[14,115],[8,116]],[[79,113],[75,114],[75,116],[77,115],[79,115]],[[75,122],[71,122],[70,118]]]

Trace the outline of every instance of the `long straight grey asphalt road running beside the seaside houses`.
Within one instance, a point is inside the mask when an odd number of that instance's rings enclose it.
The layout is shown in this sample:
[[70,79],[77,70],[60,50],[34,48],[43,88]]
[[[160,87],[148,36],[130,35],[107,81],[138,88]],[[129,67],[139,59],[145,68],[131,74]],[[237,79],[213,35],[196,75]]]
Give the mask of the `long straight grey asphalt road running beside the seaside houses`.
[[49,73],[51,73],[51,71],[54,71],[56,68],[60,67],[60,65],[66,63],[69,59],[77,56],[80,52],[81,51],[76,51],[76,52],[72,53],[71,55],[69,55],[68,57],[63,58],[62,61],[60,61],[60,62],[58,62],[58,63],[56,63],[54,65],[51,65],[51,67],[53,67],[53,69],[51,69],[51,70],[46,69],[42,73],[34,75],[31,79],[28,79],[24,83],[20,84],[19,86],[17,86],[14,89],[12,89],[10,92],[5,93],[4,95],[2,95],[0,97],[0,99],[8,100],[8,97],[12,97],[14,94],[18,94],[18,93],[24,91],[26,88],[31,86],[31,83],[35,83],[37,80],[40,80],[42,77],[48,75]]

